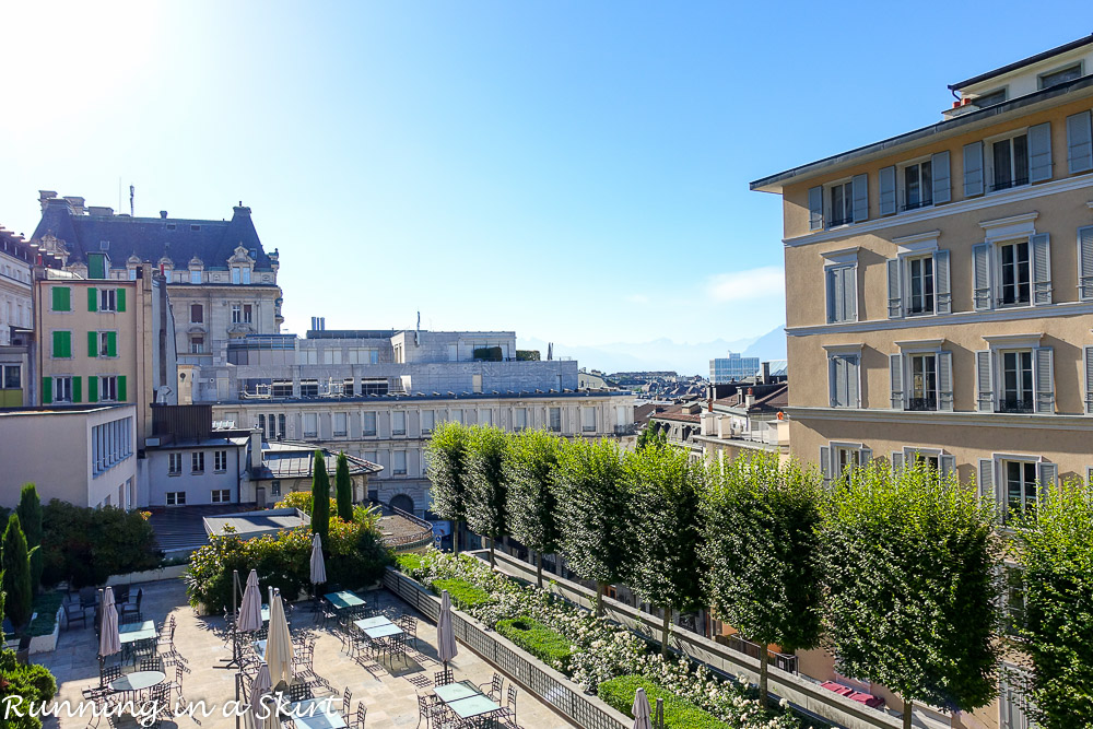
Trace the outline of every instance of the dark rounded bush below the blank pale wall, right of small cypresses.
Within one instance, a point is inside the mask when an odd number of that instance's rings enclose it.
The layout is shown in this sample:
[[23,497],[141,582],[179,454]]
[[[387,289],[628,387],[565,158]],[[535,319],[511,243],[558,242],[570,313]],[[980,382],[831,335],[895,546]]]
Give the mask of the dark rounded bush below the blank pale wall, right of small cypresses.
[[52,499],[43,508],[42,581],[72,587],[102,585],[110,575],[154,569],[163,553],[155,532],[137,512],[101,509]]

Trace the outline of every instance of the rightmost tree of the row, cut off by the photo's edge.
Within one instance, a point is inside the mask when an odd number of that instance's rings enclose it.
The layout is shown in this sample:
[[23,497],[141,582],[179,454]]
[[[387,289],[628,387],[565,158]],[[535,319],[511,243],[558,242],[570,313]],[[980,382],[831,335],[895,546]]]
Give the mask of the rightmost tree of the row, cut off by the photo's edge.
[[1081,482],[1050,489],[1020,522],[1023,648],[1032,658],[1032,714],[1044,727],[1093,717],[1093,501]]

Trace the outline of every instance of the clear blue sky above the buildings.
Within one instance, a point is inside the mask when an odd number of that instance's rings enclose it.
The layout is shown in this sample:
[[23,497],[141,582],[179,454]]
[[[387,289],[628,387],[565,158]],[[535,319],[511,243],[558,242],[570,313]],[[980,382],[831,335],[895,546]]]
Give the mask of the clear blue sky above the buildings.
[[243,200],[301,333],[420,309],[569,344],[757,336],[781,213],[750,180],[1093,31],[1084,2],[989,8],[4,3],[0,223],[30,234],[38,189],[116,208],[119,177],[138,215]]

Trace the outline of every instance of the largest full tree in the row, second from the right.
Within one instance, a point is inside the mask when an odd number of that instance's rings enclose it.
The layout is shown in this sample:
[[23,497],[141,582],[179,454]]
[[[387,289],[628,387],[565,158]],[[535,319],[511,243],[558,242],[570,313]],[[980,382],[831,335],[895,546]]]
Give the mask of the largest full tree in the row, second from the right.
[[925,461],[879,462],[830,491],[824,615],[844,675],[914,702],[972,710],[997,695],[997,542],[992,509]]

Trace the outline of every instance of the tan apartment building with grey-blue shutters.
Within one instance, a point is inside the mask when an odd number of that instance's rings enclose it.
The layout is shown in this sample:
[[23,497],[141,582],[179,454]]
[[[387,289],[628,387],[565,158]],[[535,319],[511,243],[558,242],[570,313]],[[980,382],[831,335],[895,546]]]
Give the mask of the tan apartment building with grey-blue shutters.
[[828,478],[925,458],[1003,514],[1088,477],[1091,73],[1093,36],[951,85],[938,124],[752,183],[783,197],[798,458]]

